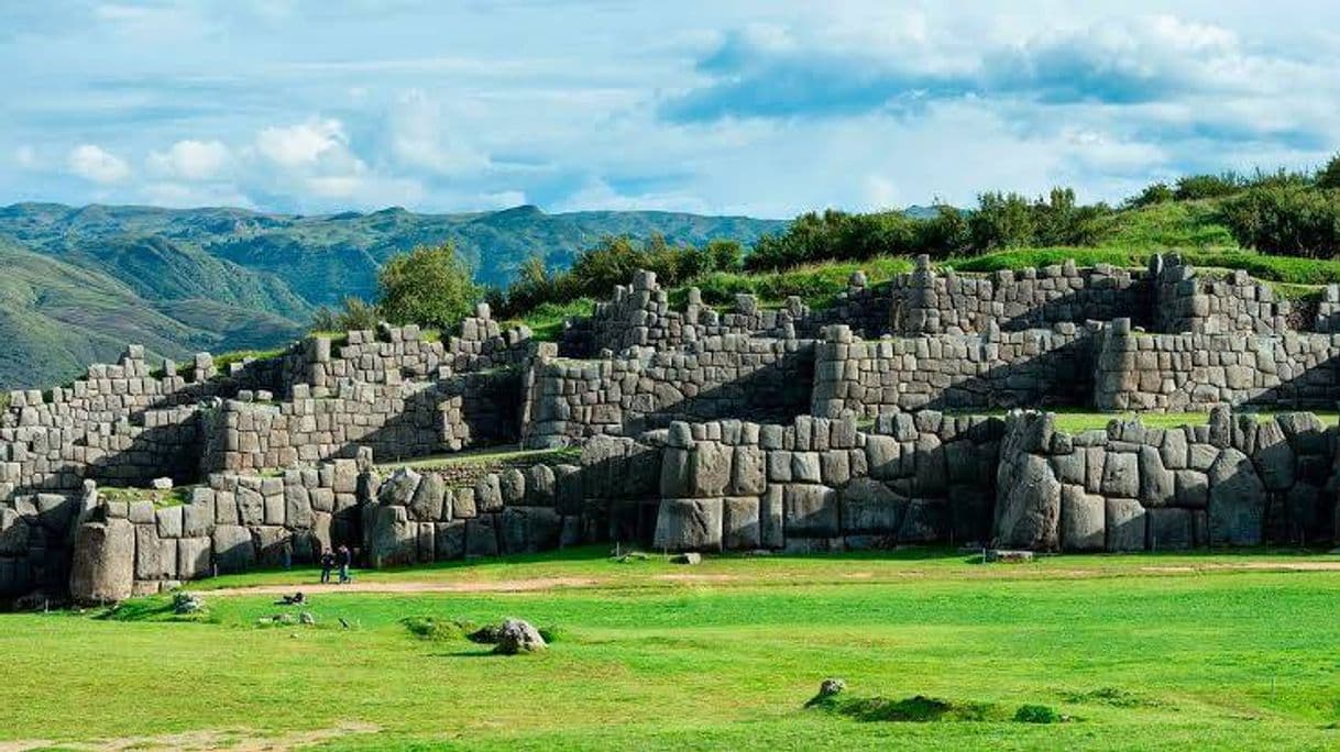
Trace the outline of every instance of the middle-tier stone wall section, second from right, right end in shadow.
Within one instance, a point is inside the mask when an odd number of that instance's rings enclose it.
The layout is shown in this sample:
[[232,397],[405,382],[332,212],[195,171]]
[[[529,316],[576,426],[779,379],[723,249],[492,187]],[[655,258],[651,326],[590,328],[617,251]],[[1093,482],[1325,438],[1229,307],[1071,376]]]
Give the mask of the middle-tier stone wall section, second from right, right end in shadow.
[[1084,405],[1092,395],[1095,331],[1057,324],[866,341],[831,326],[816,345],[811,412]]

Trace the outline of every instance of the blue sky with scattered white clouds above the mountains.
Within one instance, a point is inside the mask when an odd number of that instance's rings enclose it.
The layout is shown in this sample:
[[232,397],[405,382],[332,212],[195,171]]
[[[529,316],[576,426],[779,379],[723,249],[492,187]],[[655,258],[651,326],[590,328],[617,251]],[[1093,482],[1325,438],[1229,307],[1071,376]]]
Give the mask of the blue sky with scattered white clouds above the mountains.
[[0,4],[0,205],[1083,201],[1340,150],[1340,4]]

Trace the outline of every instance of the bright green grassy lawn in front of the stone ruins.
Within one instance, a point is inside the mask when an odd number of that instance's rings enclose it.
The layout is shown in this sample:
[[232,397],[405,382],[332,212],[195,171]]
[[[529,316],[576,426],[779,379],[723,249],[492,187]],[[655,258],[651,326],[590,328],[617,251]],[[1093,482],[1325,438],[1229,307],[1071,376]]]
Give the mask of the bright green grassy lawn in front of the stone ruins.
[[[166,598],[134,601],[111,618],[3,616],[0,748],[209,731],[218,744],[287,733],[332,749],[1340,744],[1340,571],[1256,569],[1335,557],[969,559],[909,550],[675,567],[583,549],[370,573],[364,586],[481,587],[319,593],[308,606],[316,626],[257,626],[281,610],[273,595],[204,587],[208,616],[198,621],[173,621]],[[568,586],[488,587],[537,578]],[[295,571],[208,585],[310,582],[311,573]],[[414,616],[517,616],[556,626],[560,638],[540,656],[494,657],[468,641],[411,634],[401,620]],[[831,676],[867,709],[922,707],[899,702],[926,696],[955,712],[903,723],[805,709]],[[1014,721],[1025,704],[1069,720]]]

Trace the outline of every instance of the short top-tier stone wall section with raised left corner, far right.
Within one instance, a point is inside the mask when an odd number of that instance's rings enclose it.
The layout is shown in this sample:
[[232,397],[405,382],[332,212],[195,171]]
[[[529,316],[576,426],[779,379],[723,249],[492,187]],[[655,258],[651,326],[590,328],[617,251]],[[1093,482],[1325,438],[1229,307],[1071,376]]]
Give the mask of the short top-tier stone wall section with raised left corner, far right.
[[1290,329],[1292,304],[1246,272],[1213,277],[1186,265],[1177,254],[1155,256],[1150,264],[1158,285],[1155,329],[1159,332],[1278,335]]

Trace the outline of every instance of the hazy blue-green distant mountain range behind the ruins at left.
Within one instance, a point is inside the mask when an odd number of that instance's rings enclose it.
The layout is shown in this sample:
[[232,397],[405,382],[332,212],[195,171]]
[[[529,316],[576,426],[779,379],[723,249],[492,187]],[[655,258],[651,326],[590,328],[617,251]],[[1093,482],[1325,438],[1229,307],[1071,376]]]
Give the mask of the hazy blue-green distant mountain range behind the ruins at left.
[[297,337],[319,305],[371,297],[378,266],[452,240],[484,284],[532,254],[565,268],[604,236],[750,244],[779,219],[670,211],[468,214],[385,209],[320,217],[244,209],[16,203],[0,207],[0,388],[48,387],[126,343],[185,357]]

